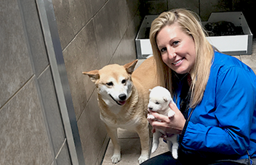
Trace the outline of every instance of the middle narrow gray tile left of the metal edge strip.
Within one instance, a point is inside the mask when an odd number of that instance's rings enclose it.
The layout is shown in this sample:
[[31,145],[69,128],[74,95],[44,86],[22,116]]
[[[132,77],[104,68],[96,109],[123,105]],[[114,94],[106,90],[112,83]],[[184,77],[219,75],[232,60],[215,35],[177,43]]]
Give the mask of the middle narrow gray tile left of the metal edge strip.
[[55,155],[60,151],[65,140],[65,131],[60,109],[57,104],[55,85],[52,80],[52,73],[48,67],[38,79],[41,99],[44,104],[44,111],[47,118],[49,133],[52,138]]

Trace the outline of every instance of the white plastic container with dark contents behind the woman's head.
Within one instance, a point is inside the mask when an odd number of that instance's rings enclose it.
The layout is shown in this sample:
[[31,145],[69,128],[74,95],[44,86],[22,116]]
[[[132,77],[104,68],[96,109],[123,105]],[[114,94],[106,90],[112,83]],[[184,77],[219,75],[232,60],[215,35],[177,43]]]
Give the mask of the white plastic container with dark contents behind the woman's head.
[[[152,54],[151,43],[149,41],[148,32],[151,27],[151,22],[156,19],[158,15],[145,16],[139,33],[135,38],[137,59],[145,59]],[[252,54],[252,32],[249,30],[247,21],[242,12],[212,12],[207,22],[202,22],[206,25],[208,22],[228,21],[235,26],[241,26],[244,35],[225,35],[225,36],[211,36],[207,37],[209,43],[215,46],[219,51],[229,55]]]

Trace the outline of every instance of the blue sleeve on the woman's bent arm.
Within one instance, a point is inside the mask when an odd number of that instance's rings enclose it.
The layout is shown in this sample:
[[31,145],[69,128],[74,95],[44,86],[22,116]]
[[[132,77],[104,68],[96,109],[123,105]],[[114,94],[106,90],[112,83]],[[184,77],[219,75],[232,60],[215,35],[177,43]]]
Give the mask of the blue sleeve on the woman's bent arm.
[[[214,111],[214,115],[196,117],[204,122],[188,122],[183,138],[185,148],[244,155],[249,147],[256,102],[255,80],[252,79],[255,79],[254,73],[240,67],[219,73],[215,87],[215,108],[209,109],[209,112]],[[201,124],[207,123],[205,121],[210,118],[215,120],[214,125]]]

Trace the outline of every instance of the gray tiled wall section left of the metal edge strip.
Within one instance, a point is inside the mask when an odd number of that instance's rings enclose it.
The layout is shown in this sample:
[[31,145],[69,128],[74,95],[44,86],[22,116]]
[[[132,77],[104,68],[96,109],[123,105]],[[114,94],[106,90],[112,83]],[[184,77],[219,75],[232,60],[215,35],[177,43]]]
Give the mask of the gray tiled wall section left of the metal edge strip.
[[0,5],[0,164],[71,164],[36,2]]

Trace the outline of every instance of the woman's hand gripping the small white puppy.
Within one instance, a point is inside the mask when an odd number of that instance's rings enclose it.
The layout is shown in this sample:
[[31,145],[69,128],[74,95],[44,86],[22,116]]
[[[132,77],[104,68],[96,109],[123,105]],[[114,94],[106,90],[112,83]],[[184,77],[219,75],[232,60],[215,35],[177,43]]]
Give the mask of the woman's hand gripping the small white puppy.
[[183,131],[183,127],[185,125],[185,118],[183,117],[183,114],[180,112],[179,109],[177,109],[177,106],[175,106],[174,103],[169,103],[169,107],[172,109],[172,111],[175,111],[174,117],[167,117],[162,114],[158,114],[157,112],[151,111],[151,114],[159,121],[156,121],[156,119],[148,119],[148,122],[152,125],[153,130],[152,132],[155,132],[156,128],[159,130],[163,130],[167,133],[167,135],[172,134],[181,134]]

